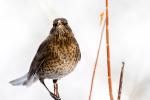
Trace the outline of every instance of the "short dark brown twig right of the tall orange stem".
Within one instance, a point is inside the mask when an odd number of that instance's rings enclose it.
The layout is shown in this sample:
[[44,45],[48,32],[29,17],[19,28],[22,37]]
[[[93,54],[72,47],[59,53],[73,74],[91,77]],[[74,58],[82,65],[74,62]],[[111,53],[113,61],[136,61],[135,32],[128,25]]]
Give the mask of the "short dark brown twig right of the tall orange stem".
[[125,63],[122,62],[122,68],[121,68],[121,73],[120,73],[120,81],[119,81],[119,90],[118,90],[118,99],[121,99],[121,92],[122,92],[122,84],[123,84],[123,73],[124,73],[124,65]]

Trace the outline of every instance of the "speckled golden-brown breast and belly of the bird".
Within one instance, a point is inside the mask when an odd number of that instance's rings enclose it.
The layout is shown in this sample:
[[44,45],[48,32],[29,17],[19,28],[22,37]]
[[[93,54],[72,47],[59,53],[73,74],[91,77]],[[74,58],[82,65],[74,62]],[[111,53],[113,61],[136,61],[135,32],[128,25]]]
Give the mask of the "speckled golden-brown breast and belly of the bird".
[[59,79],[72,72],[81,58],[79,45],[74,37],[56,39],[47,47],[47,55],[38,74],[43,78]]

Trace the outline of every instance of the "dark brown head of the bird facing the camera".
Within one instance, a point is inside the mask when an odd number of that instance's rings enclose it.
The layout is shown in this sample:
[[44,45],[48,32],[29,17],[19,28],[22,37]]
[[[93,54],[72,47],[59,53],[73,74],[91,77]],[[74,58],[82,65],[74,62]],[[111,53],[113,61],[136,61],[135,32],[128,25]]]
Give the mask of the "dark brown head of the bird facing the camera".
[[53,21],[53,27],[51,29],[51,34],[66,34],[72,33],[68,21],[65,18],[56,18]]

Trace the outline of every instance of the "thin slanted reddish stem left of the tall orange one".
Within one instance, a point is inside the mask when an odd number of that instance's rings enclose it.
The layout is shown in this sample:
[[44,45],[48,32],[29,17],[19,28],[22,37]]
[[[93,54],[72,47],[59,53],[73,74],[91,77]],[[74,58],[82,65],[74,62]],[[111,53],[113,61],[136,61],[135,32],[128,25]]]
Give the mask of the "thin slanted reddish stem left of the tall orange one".
[[104,33],[105,23],[106,23],[106,20],[104,21],[104,24],[103,24],[103,27],[102,27],[102,31],[101,31],[100,43],[99,43],[99,47],[98,47],[98,51],[97,51],[96,61],[95,61],[95,65],[94,65],[94,69],[93,69],[93,75],[92,75],[92,80],[91,80],[89,100],[91,100],[91,97],[92,97],[94,78],[95,78],[95,73],[96,73],[96,68],[97,68],[100,48],[101,48],[101,44],[102,44],[102,37],[103,37],[103,33]]

